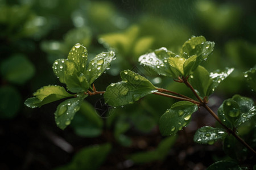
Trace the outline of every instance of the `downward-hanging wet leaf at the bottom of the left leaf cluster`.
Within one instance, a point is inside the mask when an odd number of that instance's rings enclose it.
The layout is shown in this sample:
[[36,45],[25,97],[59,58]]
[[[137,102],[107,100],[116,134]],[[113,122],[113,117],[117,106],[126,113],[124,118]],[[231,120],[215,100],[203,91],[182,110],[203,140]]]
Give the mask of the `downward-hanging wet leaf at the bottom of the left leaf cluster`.
[[64,130],[68,125],[71,124],[73,117],[75,116],[76,112],[79,111],[81,102],[85,97],[86,96],[67,99],[58,105],[54,114],[56,125],[60,129]]

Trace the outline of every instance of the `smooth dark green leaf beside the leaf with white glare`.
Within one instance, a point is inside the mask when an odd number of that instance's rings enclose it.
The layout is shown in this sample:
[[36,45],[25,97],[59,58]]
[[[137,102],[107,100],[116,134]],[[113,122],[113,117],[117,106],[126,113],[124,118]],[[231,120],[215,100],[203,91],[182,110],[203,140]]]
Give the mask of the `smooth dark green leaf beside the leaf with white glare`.
[[199,95],[204,97],[207,95],[207,90],[211,82],[210,74],[203,66],[199,66],[189,77],[189,82]]

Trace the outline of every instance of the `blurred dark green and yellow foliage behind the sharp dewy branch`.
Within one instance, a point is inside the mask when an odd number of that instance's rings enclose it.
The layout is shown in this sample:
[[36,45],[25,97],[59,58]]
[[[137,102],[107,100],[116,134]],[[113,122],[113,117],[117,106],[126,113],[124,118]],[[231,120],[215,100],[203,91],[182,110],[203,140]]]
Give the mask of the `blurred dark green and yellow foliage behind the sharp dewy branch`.
[[[157,87],[192,96],[187,87],[138,65],[139,56],[163,46],[178,52],[192,35],[216,43],[205,68],[235,68],[212,95],[210,107],[217,111],[234,94],[255,99],[255,81],[247,86],[243,76],[256,63],[255,5],[250,0],[1,0],[0,169],[204,169],[219,160],[218,144],[199,147],[192,141],[197,128],[214,125],[203,111],[179,137],[160,135],[159,117],[174,100],[150,95],[112,108],[102,118],[96,103],[103,97],[93,96],[64,131],[53,118],[59,101],[36,109],[23,102],[42,86],[63,86],[52,63],[66,58],[78,42],[88,49],[89,59],[106,50],[116,53],[112,68],[95,82],[99,91],[121,80],[120,71],[131,69]],[[192,158],[195,154],[198,159]]]

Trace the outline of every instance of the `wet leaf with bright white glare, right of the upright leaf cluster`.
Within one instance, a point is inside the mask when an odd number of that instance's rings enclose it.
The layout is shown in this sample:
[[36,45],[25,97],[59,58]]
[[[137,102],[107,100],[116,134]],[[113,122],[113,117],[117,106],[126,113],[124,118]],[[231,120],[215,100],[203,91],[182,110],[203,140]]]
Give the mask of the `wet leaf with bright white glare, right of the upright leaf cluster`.
[[210,73],[210,79],[212,82],[209,84],[208,90],[207,90],[207,96],[211,95],[215,88],[218,87],[218,84],[220,84],[225,78],[227,78],[232,72],[234,68],[225,68],[225,70],[216,70],[212,73]]

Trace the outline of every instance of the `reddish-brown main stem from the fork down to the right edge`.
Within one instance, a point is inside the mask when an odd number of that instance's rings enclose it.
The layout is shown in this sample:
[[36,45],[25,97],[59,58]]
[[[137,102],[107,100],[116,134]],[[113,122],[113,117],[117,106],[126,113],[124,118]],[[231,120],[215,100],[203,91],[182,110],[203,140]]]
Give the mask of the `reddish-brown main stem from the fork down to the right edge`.
[[220,118],[218,118],[218,116],[212,111],[212,109],[210,109],[210,108],[208,107],[208,105],[204,104],[203,107],[204,107],[205,109],[207,109],[207,111],[208,111],[210,114],[212,114],[212,116],[213,116],[229,133],[231,133],[238,141],[240,141],[245,147],[247,147],[250,151],[252,151],[254,154],[256,154],[256,151],[254,151],[253,148],[251,148],[245,141],[243,141],[243,139],[240,138],[240,136],[238,136],[235,131],[233,131],[232,129],[229,129],[226,125],[224,125],[224,124],[221,122]]

